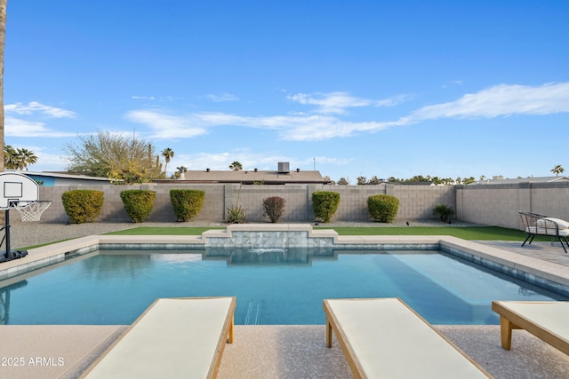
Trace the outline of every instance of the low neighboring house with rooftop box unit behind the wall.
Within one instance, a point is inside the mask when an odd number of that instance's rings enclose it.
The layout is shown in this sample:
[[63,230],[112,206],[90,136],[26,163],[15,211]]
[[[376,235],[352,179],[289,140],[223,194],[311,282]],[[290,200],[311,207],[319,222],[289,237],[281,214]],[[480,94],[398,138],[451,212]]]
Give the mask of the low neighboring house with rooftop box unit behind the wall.
[[262,170],[210,170],[186,171],[179,179],[155,180],[156,183],[236,183],[244,185],[328,185],[330,180],[322,178],[320,171],[289,170],[288,162],[279,162],[275,171]]

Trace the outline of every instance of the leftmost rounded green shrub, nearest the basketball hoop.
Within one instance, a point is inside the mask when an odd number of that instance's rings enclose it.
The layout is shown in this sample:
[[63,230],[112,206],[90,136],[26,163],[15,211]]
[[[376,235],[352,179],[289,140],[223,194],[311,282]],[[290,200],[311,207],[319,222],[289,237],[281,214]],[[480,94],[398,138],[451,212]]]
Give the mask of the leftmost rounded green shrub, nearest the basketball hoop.
[[69,223],[92,223],[103,208],[104,194],[95,190],[72,190],[63,193],[61,201],[69,217]]

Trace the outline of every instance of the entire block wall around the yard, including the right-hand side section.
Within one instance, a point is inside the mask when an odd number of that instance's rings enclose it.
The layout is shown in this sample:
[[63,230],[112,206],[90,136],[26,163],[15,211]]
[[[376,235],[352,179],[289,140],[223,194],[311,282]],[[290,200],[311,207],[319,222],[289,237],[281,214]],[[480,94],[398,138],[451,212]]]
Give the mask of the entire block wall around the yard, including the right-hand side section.
[[[51,200],[52,206],[42,216],[43,222],[66,223],[68,217],[61,203],[61,194],[84,186],[40,186],[40,200]],[[227,207],[243,207],[249,222],[268,222],[263,217],[262,201],[269,196],[280,196],[286,201],[280,222],[314,222],[311,195],[315,191],[334,191],[341,195],[338,211],[333,220],[367,221],[367,198],[387,193],[399,199],[397,222],[435,219],[432,209],[444,203],[456,210],[455,218],[481,225],[496,225],[519,229],[518,211],[527,210],[549,217],[569,219],[569,183],[521,183],[512,185],[477,186],[239,186],[239,185],[143,185],[96,186],[104,191],[105,201],[101,222],[129,222],[120,193],[125,189],[143,188],[156,191],[154,210],[148,221],[174,222],[170,190],[192,188],[205,191],[204,206],[196,220],[223,222]],[[17,213],[13,211],[12,213]],[[20,222],[15,214],[11,222]]]

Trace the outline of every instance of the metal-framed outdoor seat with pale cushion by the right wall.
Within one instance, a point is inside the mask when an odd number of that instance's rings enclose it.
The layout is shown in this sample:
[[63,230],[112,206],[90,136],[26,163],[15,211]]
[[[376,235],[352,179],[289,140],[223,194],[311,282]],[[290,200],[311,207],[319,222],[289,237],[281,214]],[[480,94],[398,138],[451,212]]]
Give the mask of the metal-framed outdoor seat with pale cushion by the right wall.
[[561,247],[565,253],[567,252],[565,244],[569,247],[569,241],[567,241],[567,236],[569,236],[569,222],[559,218],[545,217],[537,213],[524,211],[520,211],[519,216],[522,219],[524,231],[527,233],[527,237],[524,243],[522,243],[522,246],[524,246],[528,240],[528,245],[531,244],[536,235],[546,235],[551,237],[552,245],[553,239],[557,237],[561,243]]

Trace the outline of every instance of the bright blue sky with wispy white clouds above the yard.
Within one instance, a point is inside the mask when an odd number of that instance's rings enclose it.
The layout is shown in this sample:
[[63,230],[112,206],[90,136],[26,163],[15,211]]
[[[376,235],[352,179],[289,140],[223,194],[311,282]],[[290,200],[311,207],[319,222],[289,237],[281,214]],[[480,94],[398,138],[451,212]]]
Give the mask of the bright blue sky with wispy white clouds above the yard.
[[569,170],[569,2],[9,0],[6,145],[28,170],[132,133],[189,170]]

